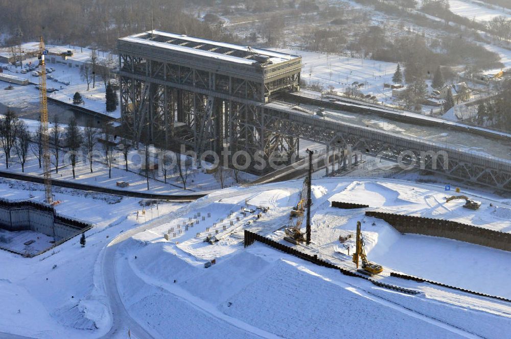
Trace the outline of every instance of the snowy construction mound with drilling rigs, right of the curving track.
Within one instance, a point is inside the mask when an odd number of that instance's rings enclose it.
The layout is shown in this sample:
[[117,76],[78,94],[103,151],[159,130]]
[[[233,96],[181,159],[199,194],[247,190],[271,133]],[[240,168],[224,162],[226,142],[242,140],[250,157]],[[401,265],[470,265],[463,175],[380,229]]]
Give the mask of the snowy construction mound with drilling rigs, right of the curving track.
[[[341,337],[356,335],[355,330],[350,332],[346,328],[346,319],[358,326],[373,322],[374,326],[385,324],[396,337],[408,337],[410,324],[419,337],[431,333],[438,337],[498,338],[504,335],[502,330],[494,332],[494,327],[509,324],[508,318],[501,317],[510,310],[506,304],[491,302],[490,305],[482,299],[465,296],[457,296],[458,300],[454,301],[452,292],[434,288],[430,291],[416,284],[411,287],[423,290],[424,296],[403,296],[315,267],[264,245],[252,245],[243,250],[243,227],[237,227],[247,225],[245,227],[274,237],[271,233],[289,222],[289,210],[296,203],[300,187],[300,181],[290,181],[219,192],[216,198],[204,198],[207,204],[201,199],[174,214],[172,221],[160,223],[126,241],[120,250],[118,276],[125,277],[119,286],[131,317],[145,319],[147,329],[162,337],[169,333],[188,336],[187,331],[193,333],[191,336],[201,336],[205,329],[218,333],[212,337],[224,336],[226,329],[246,337],[310,337],[312,333],[318,337],[339,337],[339,333],[343,333]],[[350,265],[350,260],[344,261],[347,248],[339,244],[339,233],[353,232],[356,221],[365,218],[361,211],[329,207],[330,201],[335,199],[369,203],[372,208],[392,212],[476,221],[476,224],[477,221],[487,222],[489,227],[502,230],[511,226],[496,212],[498,208],[507,208],[508,201],[478,197],[483,207],[474,212],[457,202],[446,205],[441,189],[428,185],[376,179],[355,182],[347,178],[321,179],[314,182],[313,194],[310,250],[344,265]],[[500,206],[491,208],[490,202]],[[263,213],[261,219],[254,219],[250,214],[243,217],[239,212],[243,206],[270,207],[270,211]],[[185,230],[182,221],[187,224],[190,220],[199,220],[199,223],[194,222],[194,227]],[[376,225],[370,226],[371,221],[367,220],[363,226],[369,258],[380,260],[388,270],[402,270],[511,297],[507,287],[511,281],[501,273],[511,269],[502,269],[502,265],[509,262],[510,253],[440,238],[403,236],[382,221],[376,220]],[[222,223],[227,231],[232,230],[231,236],[215,245],[202,242],[207,233],[221,230]],[[178,232],[179,229],[182,232]],[[165,234],[170,234],[169,241],[165,240]],[[353,241],[345,245],[353,252]],[[407,254],[410,251],[413,255]],[[204,263],[213,258],[217,264],[204,269]],[[499,263],[501,270],[486,267],[489,261]],[[439,262],[443,263],[441,269]],[[387,279],[393,278],[384,277],[383,281]],[[489,285],[487,281],[495,283]],[[392,280],[392,283],[400,281]],[[332,305],[342,307],[332,308]],[[172,312],[175,316],[161,318],[169,309],[175,309]],[[193,319],[204,321],[190,326],[179,316],[180,309],[186,309]],[[370,315],[366,315],[369,310]],[[364,316],[359,316],[362,313]],[[295,314],[315,319],[313,327],[298,330],[294,326]],[[484,319],[484,325],[476,325],[476,319],[479,324]]]

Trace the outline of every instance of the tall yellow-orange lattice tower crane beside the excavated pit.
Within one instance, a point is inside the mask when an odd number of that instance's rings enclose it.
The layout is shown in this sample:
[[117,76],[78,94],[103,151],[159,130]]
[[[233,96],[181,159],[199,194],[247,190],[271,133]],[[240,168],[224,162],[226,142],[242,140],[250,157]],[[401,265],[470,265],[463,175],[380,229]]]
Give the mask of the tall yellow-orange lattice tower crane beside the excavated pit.
[[39,42],[39,60],[41,63],[41,76],[39,76],[39,100],[41,105],[41,142],[44,170],[44,193],[45,201],[53,203],[52,196],[52,173],[50,170],[50,136],[48,133],[48,99],[46,96],[46,65],[44,62],[44,40]]

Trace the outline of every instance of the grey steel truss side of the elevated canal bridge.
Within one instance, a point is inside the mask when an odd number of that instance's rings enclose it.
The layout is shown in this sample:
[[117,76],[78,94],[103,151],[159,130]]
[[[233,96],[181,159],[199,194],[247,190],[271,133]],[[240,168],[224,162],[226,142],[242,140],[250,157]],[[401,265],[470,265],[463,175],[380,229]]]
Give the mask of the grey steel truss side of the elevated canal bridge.
[[407,138],[374,128],[330,121],[283,108],[265,108],[265,128],[328,146],[410,164],[435,173],[486,186],[511,190],[511,162],[484,157],[422,139]]

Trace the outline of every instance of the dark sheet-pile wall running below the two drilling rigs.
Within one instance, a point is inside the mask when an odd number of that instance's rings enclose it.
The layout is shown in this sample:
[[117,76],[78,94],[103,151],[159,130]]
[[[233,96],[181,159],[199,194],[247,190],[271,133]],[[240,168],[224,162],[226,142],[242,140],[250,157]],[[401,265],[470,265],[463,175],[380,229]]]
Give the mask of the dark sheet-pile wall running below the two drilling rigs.
[[250,232],[249,230],[245,229],[245,242],[244,242],[245,247],[252,245],[255,241],[259,241],[260,243],[266,244],[268,246],[271,246],[271,247],[273,247],[273,248],[275,248],[277,250],[283,251],[285,253],[294,255],[294,256],[296,256],[296,257],[298,257],[300,259],[304,259],[304,260],[306,260],[306,261],[308,261],[310,263],[313,263],[315,265],[318,265],[318,266],[321,266],[321,267],[331,268],[331,269],[334,269],[334,270],[339,270],[339,272],[341,272],[344,275],[351,276],[351,277],[356,277],[356,278],[361,278],[361,279],[370,281],[371,283],[373,283],[373,284],[375,284],[375,285],[377,285],[377,286],[379,286],[381,288],[385,288],[385,289],[389,289],[389,290],[393,290],[393,291],[398,291],[398,292],[406,293],[406,294],[412,294],[412,295],[420,293],[419,291],[410,290],[410,289],[404,289],[404,288],[401,288],[399,286],[394,286],[394,285],[390,285],[390,284],[387,284],[387,283],[383,283],[383,282],[374,280],[374,279],[372,279],[372,278],[370,278],[368,276],[365,276],[365,275],[353,272],[351,270],[347,270],[345,268],[342,268],[342,267],[339,267],[339,266],[334,265],[332,263],[329,263],[329,262],[327,262],[327,261],[325,261],[323,259],[320,259],[320,258],[318,258],[317,254],[311,255],[311,254],[307,254],[307,253],[298,251],[295,248],[291,248],[289,246],[286,246],[284,244],[278,243],[278,242],[276,242],[274,240],[271,240],[269,238],[263,237],[260,234],[257,234],[257,233],[254,233],[254,232]]

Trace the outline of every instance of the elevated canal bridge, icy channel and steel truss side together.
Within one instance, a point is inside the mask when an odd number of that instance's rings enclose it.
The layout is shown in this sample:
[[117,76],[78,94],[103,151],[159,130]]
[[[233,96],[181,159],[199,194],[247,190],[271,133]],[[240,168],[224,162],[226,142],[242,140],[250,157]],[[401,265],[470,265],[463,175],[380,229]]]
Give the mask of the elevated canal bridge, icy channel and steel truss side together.
[[[404,168],[420,167],[511,190],[511,138],[497,141],[471,132],[449,131],[446,126],[386,121],[377,115],[344,111],[326,110],[327,116],[319,117],[282,102],[262,107],[268,120],[266,131],[337,148],[351,145],[352,150],[400,163]],[[408,157],[405,162],[403,154]]]

